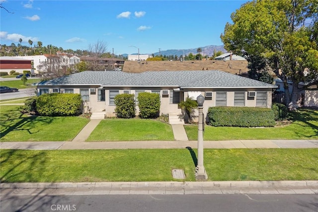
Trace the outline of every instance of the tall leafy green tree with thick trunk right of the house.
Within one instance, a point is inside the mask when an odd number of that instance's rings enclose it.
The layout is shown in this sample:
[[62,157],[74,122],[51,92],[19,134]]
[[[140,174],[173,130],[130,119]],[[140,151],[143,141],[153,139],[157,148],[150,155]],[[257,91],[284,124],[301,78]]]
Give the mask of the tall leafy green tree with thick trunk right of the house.
[[283,80],[290,110],[297,109],[298,94],[306,87],[299,88],[300,82],[317,84],[317,8],[317,0],[253,0],[232,13],[233,23],[221,34],[226,50],[264,58]]

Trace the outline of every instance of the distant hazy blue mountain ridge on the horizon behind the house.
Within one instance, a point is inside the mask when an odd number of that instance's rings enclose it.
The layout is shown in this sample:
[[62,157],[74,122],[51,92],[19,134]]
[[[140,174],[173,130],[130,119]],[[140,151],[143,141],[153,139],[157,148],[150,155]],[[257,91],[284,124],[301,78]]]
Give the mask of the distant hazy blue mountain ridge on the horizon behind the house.
[[[210,46],[204,46],[204,47],[198,47],[201,48],[202,52],[201,55],[208,55],[209,57],[211,57],[215,51],[221,51],[223,53],[227,53],[227,51],[224,49],[224,45],[221,46],[216,46],[216,45],[210,45]],[[170,50],[165,50],[165,51],[160,51],[160,54],[163,55],[176,55],[176,56],[180,56],[183,55],[189,55],[190,53],[196,55],[197,53],[197,49],[170,49]],[[204,51],[204,52],[203,52]],[[153,53],[148,53],[148,55],[152,55]],[[132,54],[132,55],[138,55],[137,53]],[[159,52],[154,53],[155,56],[159,55]],[[123,54],[124,57],[128,57],[128,54]]]

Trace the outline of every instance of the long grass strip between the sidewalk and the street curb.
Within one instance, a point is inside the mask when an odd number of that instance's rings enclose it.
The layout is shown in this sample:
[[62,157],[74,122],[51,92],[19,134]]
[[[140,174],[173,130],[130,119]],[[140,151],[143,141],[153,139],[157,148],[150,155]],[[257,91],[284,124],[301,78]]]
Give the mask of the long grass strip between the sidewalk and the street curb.
[[[0,150],[1,182],[195,181],[190,149]],[[194,158],[194,159],[193,159]],[[318,149],[205,149],[209,181],[318,180]]]

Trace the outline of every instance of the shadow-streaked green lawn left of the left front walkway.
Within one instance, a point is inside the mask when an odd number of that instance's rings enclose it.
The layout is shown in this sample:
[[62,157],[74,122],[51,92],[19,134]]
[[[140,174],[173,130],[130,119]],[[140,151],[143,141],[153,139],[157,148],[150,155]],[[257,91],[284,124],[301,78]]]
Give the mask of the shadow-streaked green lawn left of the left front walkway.
[[23,115],[19,106],[0,106],[0,141],[72,141],[89,122],[81,117]]

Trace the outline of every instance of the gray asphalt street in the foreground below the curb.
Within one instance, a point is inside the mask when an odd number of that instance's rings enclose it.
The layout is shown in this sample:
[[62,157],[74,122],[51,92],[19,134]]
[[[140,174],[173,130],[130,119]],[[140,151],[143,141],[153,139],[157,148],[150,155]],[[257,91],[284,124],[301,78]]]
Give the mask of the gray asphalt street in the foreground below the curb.
[[318,195],[1,196],[1,212],[318,212]]

